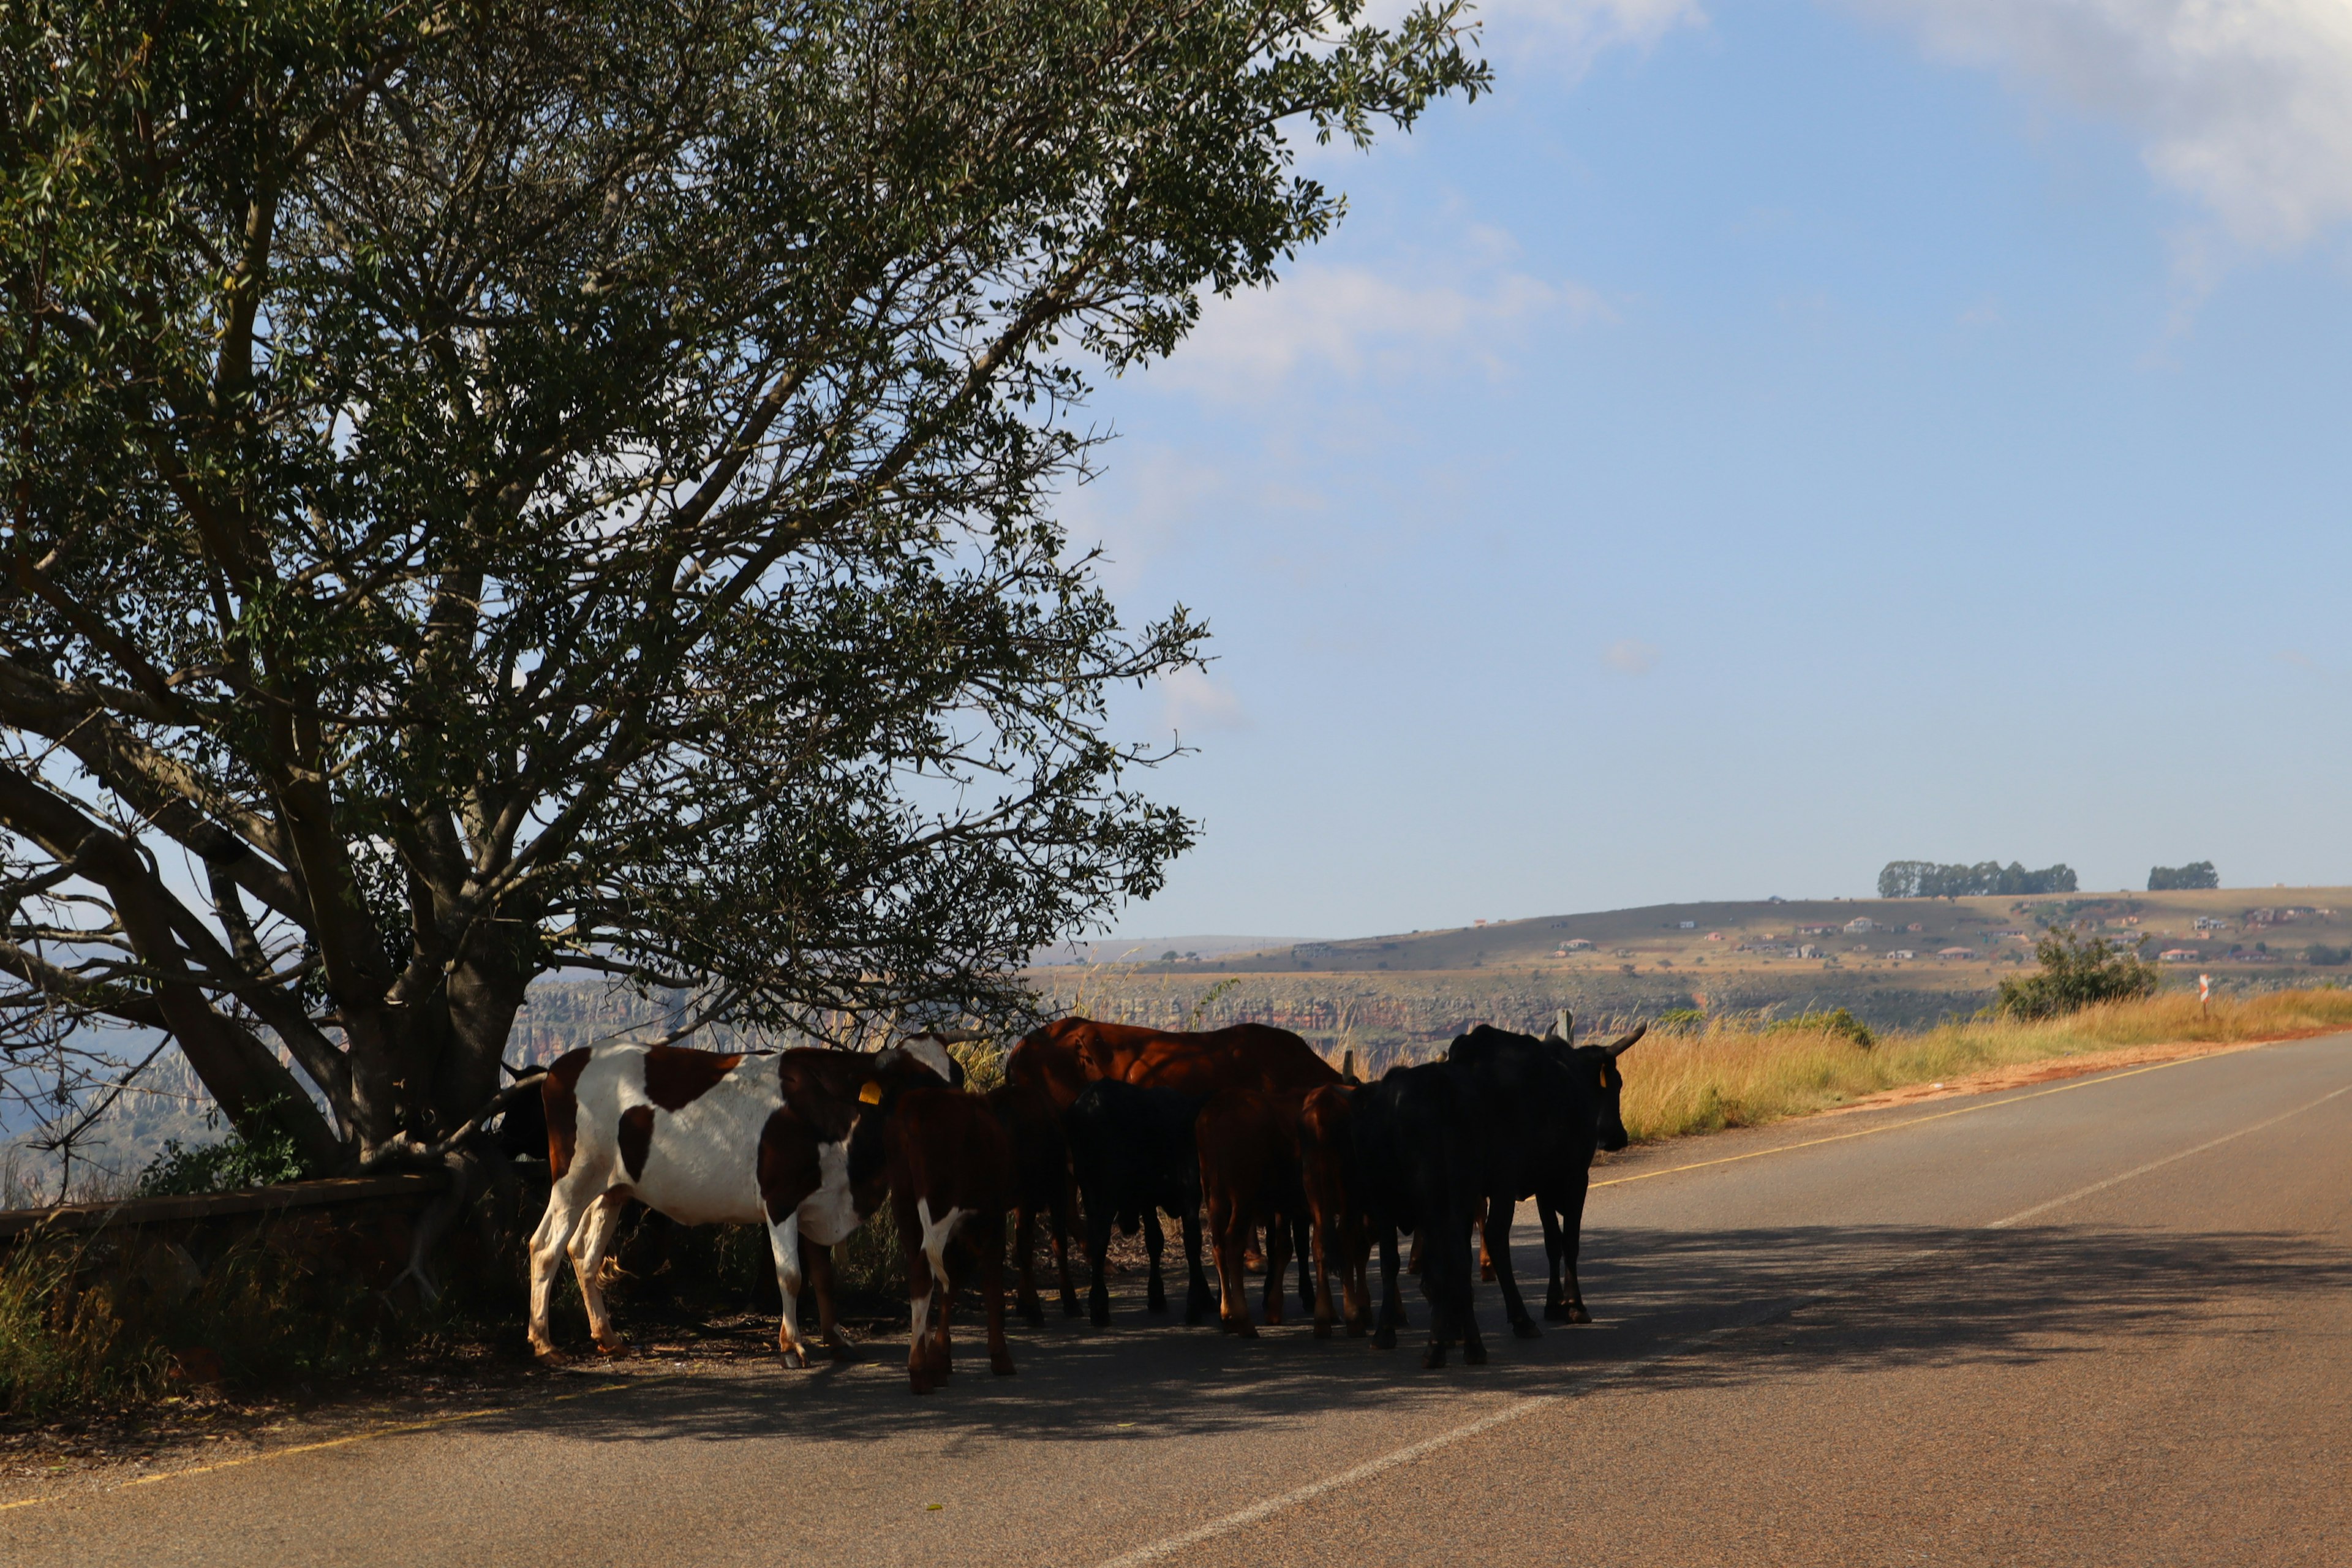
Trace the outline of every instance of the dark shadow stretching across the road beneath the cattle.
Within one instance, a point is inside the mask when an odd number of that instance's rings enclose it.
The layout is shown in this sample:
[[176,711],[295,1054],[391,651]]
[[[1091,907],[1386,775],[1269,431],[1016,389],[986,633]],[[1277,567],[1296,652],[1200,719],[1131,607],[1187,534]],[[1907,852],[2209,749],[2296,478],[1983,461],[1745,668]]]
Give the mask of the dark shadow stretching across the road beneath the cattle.
[[[1543,1248],[1515,1248],[1541,1305]],[[1409,1286],[1411,1281],[1406,1281]],[[1573,1394],[1597,1378],[1708,1387],[1790,1373],[1936,1363],[2034,1363],[2176,1333],[2263,1331],[2281,1302],[2352,1288],[2352,1251],[2307,1234],[2034,1227],[1592,1229],[1592,1326],[1510,1335],[1479,1288],[1491,1361],[1421,1371],[1428,1307],[1399,1349],[1315,1340],[1291,1314],[1244,1342],[1148,1316],[1134,1295],[1110,1328],[1051,1316],[1014,1326],[1016,1378],[988,1373],[978,1324],[957,1324],[957,1373],[915,1399],[906,1342],[875,1340],[854,1366],[776,1363],[640,1389],[529,1403],[487,1418],[579,1441],[811,1434],[826,1441],[922,1432],[934,1441],[1150,1441],[1218,1434],[1369,1401]],[[1256,1286],[1256,1281],[1251,1281]],[[1251,1291],[1256,1302],[1256,1288]]]

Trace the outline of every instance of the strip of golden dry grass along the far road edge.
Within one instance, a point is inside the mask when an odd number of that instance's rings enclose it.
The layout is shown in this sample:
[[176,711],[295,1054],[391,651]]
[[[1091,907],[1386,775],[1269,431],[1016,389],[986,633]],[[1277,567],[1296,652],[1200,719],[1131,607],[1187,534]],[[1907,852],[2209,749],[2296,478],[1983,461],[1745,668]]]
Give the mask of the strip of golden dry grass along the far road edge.
[[1882,1034],[1867,1048],[1830,1032],[1766,1032],[1752,1018],[1715,1020],[1705,1030],[1651,1034],[1635,1046],[1625,1058],[1625,1131],[1635,1140],[1710,1133],[1987,1067],[2117,1046],[2230,1044],[2343,1027],[2352,1027],[2352,990],[2336,987],[2216,1001],[2209,1016],[2197,1013],[2192,994],[2176,992],[2042,1023],[1980,1020]]

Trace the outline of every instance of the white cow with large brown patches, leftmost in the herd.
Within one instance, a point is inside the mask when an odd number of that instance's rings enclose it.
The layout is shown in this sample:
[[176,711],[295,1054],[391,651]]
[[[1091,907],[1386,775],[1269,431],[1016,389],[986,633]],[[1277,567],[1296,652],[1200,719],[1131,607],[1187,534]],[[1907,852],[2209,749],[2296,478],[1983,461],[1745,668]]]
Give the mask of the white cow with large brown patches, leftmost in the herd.
[[560,1056],[541,1088],[553,1190],[532,1234],[532,1349],[555,1356],[548,1298],[564,1253],[579,1272],[597,1347],[626,1349],[597,1274],[623,1204],[637,1199],[680,1225],[767,1227],[783,1291],[776,1342],[786,1366],[809,1363],[797,1324],[800,1241],[816,1244],[809,1276],[826,1345],[835,1356],[847,1354],[823,1248],[882,1204],[877,1107],[901,1088],[938,1088],[962,1077],[929,1037],[877,1053],[595,1046]]

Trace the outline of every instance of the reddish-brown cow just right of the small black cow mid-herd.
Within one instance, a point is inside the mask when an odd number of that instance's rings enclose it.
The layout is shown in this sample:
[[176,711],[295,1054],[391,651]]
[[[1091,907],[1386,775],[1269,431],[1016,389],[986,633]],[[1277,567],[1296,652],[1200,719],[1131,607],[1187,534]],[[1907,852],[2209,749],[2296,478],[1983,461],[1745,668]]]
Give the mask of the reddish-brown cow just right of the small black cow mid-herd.
[[[1265,1321],[1282,1321],[1282,1269],[1289,1265],[1291,1229],[1305,1222],[1305,1190],[1298,1178],[1301,1093],[1270,1095],[1256,1088],[1221,1088],[1200,1107],[1200,1192],[1209,1208],[1209,1244],[1216,1251],[1218,1328],[1244,1340],[1258,1338],[1249,1319],[1242,1253],[1265,1225]],[[1298,1258],[1301,1295],[1308,1288],[1308,1255]]]

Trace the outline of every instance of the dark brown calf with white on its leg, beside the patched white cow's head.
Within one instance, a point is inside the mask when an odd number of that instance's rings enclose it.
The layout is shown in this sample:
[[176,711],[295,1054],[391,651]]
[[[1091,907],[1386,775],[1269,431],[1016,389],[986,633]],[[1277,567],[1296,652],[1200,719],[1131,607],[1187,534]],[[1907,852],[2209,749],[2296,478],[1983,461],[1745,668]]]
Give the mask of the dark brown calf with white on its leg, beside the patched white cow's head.
[[1018,1173],[1014,1140],[997,1110],[953,1088],[891,1091],[882,1103],[882,1152],[913,1309],[908,1382],[917,1394],[929,1394],[955,1371],[948,1349],[948,1307],[955,1300],[950,1244],[974,1255],[988,1309],[988,1366],[997,1378],[1009,1378],[1014,1352],[1004,1342],[1004,1211],[1014,1206]]

